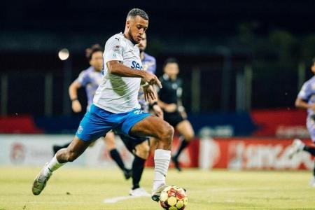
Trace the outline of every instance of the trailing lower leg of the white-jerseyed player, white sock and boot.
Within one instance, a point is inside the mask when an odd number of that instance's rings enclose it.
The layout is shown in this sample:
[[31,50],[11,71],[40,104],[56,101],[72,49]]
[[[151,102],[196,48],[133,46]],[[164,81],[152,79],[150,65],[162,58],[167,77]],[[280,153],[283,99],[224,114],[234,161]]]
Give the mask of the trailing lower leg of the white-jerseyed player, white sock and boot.
[[66,162],[76,160],[90,145],[90,141],[82,141],[78,137],[74,137],[73,141],[67,148],[62,148],[56,155],[46,163],[41,172],[34,180],[32,192],[34,195],[39,195],[43,188],[45,188],[47,181],[50,179],[52,172],[62,167]]

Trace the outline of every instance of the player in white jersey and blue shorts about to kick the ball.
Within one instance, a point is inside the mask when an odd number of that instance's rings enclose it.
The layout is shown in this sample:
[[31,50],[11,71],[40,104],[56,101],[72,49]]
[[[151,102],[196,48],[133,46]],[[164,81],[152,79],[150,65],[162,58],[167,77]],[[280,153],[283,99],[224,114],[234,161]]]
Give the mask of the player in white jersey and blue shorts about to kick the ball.
[[81,120],[71,144],[59,150],[34,180],[32,192],[39,195],[52,172],[66,162],[76,160],[92,141],[116,130],[130,137],[155,137],[157,149],[154,154],[154,179],[152,200],[159,201],[166,188],[165,176],[171,159],[174,129],[169,123],[144,113],[139,109],[140,85],[146,100],[154,100],[152,85],[162,88],[160,80],[147,71],[141,71],[139,43],[148,28],[148,15],[134,8],[127,15],[124,33],[116,34],[106,41],[104,50],[104,77],[97,88],[90,110]]

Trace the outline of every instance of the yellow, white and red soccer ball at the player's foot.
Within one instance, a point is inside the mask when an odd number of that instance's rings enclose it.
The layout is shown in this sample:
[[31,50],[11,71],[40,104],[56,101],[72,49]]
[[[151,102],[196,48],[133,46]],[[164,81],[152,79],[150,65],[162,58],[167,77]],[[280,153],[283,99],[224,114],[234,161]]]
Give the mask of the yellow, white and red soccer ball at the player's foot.
[[160,205],[165,210],[183,210],[187,204],[188,198],[183,188],[169,186],[160,195]]

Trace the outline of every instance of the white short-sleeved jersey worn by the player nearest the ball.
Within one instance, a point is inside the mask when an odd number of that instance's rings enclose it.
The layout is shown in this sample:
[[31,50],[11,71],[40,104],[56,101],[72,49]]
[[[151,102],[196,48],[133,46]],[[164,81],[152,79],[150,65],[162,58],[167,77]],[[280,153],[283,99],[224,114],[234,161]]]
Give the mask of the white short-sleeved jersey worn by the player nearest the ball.
[[106,63],[118,60],[134,71],[142,69],[140,52],[137,45],[125,38],[123,33],[111,36],[105,44],[104,77],[97,88],[93,103],[112,113],[125,113],[139,109],[138,92],[141,78],[121,77],[109,72]]

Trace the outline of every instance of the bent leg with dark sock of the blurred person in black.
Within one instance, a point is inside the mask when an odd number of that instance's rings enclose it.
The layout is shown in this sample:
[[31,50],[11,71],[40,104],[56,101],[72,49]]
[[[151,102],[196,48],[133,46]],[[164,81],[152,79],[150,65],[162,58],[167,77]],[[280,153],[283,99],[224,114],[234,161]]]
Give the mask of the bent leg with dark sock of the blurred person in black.
[[176,125],[176,130],[181,134],[181,144],[179,145],[178,150],[175,155],[172,157],[172,160],[175,164],[176,169],[181,171],[181,167],[179,165],[179,155],[183,152],[183,150],[188,146],[190,140],[195,136],[195,132],[193,130],[193,126],[190,124],[188,120],[182,120],[179,124]]

